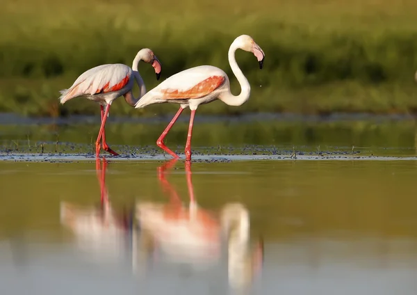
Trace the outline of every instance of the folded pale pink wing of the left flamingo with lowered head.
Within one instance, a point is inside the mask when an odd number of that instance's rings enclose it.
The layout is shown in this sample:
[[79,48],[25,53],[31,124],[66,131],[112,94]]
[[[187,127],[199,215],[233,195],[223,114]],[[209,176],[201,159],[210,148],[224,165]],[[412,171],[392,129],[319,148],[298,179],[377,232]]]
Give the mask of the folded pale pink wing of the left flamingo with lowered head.
[[129,83],[131,73],[131,67],[120,63],[93,67],[81,74],[69,89],[60,91],[60,102],[64,104],[81,95],[111,93],[120,90]]

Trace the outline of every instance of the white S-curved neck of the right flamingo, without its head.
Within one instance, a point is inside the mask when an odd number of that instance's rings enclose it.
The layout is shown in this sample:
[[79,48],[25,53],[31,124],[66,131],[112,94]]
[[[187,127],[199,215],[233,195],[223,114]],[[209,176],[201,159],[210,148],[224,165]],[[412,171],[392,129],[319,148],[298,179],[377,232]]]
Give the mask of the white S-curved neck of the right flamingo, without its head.
[[247,99],[249,99],[250,96],[250,84],[247,81],[245,75],[243,74],[242,70],[240,70],[240,67],[238,66],[238,63],[236,63],[235,58],[235,52],[237,47],[232,43],[229,48],[229,63],[232,72],[236,76],[236,79],[238,79],[238,82],[240,84],[240,94],[238,96],[233,95],[230,92],[230,88],[227,89],[224,93],[220,95],[220,99],[225,104],[229,104],[229,106],[241,106],[245,102],[247,102]]

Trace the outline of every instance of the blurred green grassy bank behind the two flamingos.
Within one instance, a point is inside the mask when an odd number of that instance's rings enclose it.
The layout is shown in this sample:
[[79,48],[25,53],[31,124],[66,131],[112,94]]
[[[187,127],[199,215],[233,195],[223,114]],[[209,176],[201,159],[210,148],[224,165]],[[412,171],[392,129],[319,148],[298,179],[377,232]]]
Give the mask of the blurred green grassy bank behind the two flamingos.
[[[199,113],[414,113],[417,110],[417,3],[413,0],[8,1],[0,11],[0,111],[26,115],[97,113],[83,99],[58,104],[90,67],[131,61],[142,47],[163,63],[161,79],[211,64],[236,79],[227,49],[241,33],[265,51],[237,59],[252,85],[247,104],[221,102]],[[157,85],[149,65],[140,72]],[[137,91],[137,90],[136,90]],[[134,110],[123,99],[113,115],[153,115],[174,106]]]

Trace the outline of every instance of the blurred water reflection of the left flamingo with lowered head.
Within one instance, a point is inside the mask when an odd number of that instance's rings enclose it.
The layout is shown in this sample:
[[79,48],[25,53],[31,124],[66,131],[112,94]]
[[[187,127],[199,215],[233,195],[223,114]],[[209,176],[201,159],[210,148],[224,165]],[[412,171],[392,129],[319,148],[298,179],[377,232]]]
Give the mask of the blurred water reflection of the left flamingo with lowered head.
[[121,259],[131,261],[126,251],[131,244],[133,218],[127,210],[121,214],[115,212],[108,198],[106,187],[107,161],[96,161],[97,180],[100,186],[99,207],[78,207],[61,202],[61,223],[72,230],[76,248],[95,257],[99,262],[115,262]]

